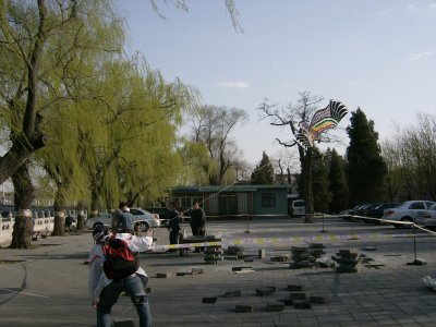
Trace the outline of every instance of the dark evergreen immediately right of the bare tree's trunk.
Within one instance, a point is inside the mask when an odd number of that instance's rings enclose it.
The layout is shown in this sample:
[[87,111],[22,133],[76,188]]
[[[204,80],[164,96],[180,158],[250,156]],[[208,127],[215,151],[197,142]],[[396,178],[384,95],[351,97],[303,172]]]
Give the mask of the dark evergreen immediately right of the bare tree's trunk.
[[312,187],[316,213],[327,213],[331,201],[328,182],[328,156],[329,154],[322,154],[316,147],[313,147]]

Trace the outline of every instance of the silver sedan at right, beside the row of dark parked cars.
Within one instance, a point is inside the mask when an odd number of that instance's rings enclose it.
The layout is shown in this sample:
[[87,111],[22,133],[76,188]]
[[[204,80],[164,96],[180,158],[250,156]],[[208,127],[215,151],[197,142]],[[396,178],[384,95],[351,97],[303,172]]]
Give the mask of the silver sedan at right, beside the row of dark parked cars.
[[[428,209],[431,205],[435,204],[433,201],[407,201],[395,208],[385,210],[382,219],[393,221],[411,221],[414,222],[416,214],[422,210]],[[403,225],[392,223],[393,227],[400,228]]]

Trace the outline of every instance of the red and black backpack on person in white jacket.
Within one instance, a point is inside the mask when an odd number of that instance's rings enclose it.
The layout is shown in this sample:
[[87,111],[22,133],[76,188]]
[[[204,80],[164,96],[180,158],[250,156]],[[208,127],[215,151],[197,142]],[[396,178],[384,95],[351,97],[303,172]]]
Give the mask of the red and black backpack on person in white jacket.
[[140,261],[124,240],[109,238],[102,246],[102,269],[109,279],[123,279],[140,268]]

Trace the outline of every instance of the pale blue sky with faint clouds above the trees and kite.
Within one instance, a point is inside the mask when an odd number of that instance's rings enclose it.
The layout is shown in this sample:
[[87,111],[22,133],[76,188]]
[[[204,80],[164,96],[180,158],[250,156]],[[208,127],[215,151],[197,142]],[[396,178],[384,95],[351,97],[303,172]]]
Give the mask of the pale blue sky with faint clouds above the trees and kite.
[[[232,137],[257,165],[265,150],[279,156],[275,140],[290,129],[261,119],[264,99],[286,107],[308,90],[324,100],[361,108],[379,138],[416,124],[416,113],[436,114],[436,1],[234,0],[243,33],[235,31],[225,0],[173,2],[118,0],[130,35],[128,52],[140,51],[167,81],[196,87],[204,105],[244,109],[250,121]],[[339,124],[350,124],[349,113]],[[341,154],[348,145],[330,144]],[[342,133],[342,134],[340,134]]]

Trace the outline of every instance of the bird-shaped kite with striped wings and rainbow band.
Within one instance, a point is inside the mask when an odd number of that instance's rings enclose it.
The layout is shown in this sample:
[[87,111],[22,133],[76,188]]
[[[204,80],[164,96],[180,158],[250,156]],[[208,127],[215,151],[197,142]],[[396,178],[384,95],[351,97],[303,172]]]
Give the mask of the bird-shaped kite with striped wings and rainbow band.
[[335,128],[347,113],[346,105],[330,100],[326,108],[315,111],[310,124],[304,120],[299,123],[300,130],[295,134],[296,143],[307,150],[315,141],[320,141],[320,133]]

